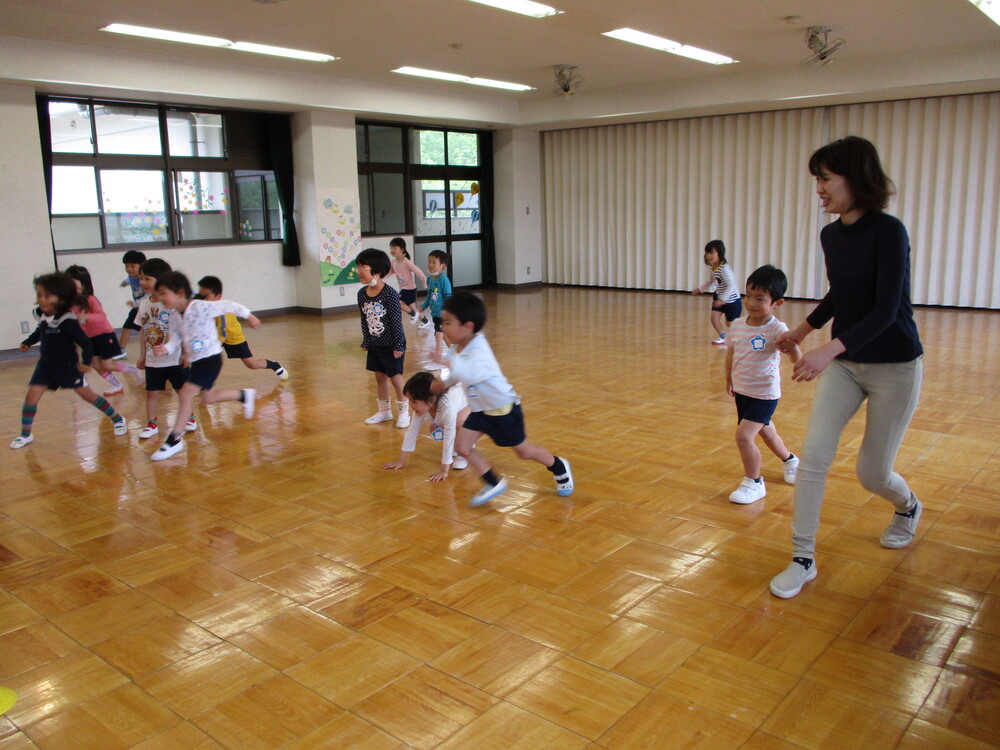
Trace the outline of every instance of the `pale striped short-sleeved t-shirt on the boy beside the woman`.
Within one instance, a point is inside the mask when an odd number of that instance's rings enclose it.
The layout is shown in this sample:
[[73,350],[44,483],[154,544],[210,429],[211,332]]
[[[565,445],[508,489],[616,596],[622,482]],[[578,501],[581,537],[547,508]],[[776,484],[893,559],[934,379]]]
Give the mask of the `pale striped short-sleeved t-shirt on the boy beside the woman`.
[[788,326],[771,317],[764,325],[734,320],[726,336],[733,350],[733,390],[750,398],[772,401],[781,398],[781,352],[775,342]]

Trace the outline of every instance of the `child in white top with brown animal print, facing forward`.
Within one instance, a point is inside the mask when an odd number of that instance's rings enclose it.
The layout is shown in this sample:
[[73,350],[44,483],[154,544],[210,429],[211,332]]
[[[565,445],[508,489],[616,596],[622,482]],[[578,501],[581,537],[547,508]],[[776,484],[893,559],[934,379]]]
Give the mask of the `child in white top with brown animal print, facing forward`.
[[[180,394],[188,378],[188,368],[181,363],[180,347],[164,355],[153,351],[153,347],[165,344],[171,336],[170,310],[164,307],[156,291],[157,280],[170,271],[170,264],[160,258],[150,258],[139,270],[139,282],[146,293],[136,306],[136,323],[140,333],[139,359],[135,366],[146,373],[146,426],[139,433],[142,440],[160,434],[157,412],[160,393],[166,390],[167,383],[173,386],[175,393]],[[190,417],[184,425],[184,432],[192,432],[197,427],[194,417]]]

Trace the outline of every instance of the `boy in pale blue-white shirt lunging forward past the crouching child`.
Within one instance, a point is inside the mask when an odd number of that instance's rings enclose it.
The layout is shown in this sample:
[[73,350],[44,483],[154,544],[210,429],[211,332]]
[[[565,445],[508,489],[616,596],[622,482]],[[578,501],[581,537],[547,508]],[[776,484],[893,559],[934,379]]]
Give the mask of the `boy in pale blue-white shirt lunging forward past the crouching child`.
[[498,477],[493,466],[476,450],[475,444],[484,434],[501,447],[510,447],[520,458],[538,461],[552,472],[556,493],[573,494],[573,473],[569,461],[558,458],[545,448],[528,442],[524,431],[521,397],[515,393],[500,371],[486,336],[481,333],[486,323],[486,306],[471,292],[456,292],[444,303],[441,327],[451,344],[451,371],[444,380],[435,380],[431,392],[440,395],[461,383],[469,400],[470,414],[465,419],[455,441],[462,456],[483,478],[484,486],[472,496],[469,505],[488,503],[507,490],[507,478]]

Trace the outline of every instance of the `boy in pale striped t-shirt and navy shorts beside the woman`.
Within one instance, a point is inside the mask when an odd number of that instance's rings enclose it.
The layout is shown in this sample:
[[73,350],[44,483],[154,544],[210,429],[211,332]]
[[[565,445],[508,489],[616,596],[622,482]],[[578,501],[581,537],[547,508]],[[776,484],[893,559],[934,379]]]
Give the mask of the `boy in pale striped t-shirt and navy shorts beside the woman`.
[[[747,317],[734,320],[726,337],[726,392],[736,399],[736,445],[744,474],[729,500],[740,505],[757,502],[767,494],[760,475],[760,450],[754,442],[758,434],[781,459],[786,482],[795,484],[799,466],[799,459],[785,448],[771,422],[781,398],[781,352],[776,342],[788,330],[774,317],[774,311],[785,301],[787,288],[788,279],[774,266],[761,266],[750,274],[745,300]],[[798,362],[802,351],[796,346],[788,356]]]

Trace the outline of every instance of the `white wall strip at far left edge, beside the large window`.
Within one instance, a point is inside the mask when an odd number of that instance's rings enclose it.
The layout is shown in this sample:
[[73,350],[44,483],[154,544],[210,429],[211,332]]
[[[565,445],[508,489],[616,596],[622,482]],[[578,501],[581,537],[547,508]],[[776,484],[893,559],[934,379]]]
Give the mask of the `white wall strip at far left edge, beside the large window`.
[[[35,92],[28,86],[0,85],[0,350],[26,338],[20,322],[30,322],[35,306],[31,280],[55,270],[49,232]],[[119,266],[121,270],[121,266]]]

